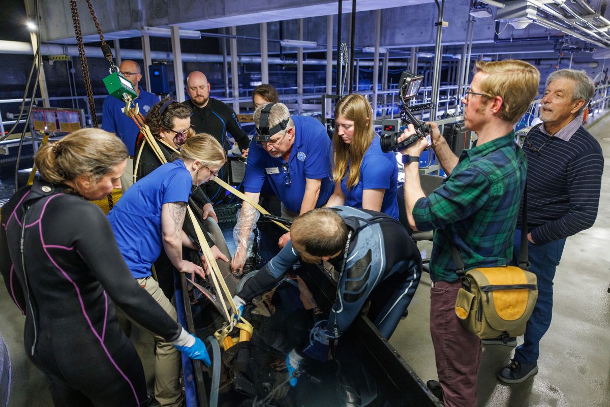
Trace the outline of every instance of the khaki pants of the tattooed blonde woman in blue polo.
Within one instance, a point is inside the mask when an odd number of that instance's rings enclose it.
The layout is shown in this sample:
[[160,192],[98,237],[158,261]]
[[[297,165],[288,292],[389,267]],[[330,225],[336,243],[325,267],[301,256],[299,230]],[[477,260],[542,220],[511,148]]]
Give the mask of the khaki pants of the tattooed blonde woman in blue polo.
[[[142,286],[154,300],[162,306],[173,319],[178,320],[176,309],[170,300],[163,295],[157,281],[152,277],[137,278]],[[182,403],[182,389],[180,386],[181,356],[178,349],[165,342],[163,338],[152,335],[155,342],[154,364],[154,397],[162,406],[178,407]]]

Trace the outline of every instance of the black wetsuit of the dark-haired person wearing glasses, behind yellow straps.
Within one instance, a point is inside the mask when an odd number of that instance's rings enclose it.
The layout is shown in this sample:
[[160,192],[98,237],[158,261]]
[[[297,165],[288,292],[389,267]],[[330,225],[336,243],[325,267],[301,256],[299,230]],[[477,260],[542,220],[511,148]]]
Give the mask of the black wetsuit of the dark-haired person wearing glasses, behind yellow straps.
[[[163,156],[165,160],[171,162],[171,156],[174,154],[174,150],[170,147],[166,146],[163,143],[159,144],[159,148],[163,152]],[[142,153],[140,153],[142,151]],[[138,160],[139,157],[139,160]],[[135,159],[134,159],[134,174],[135,179],[139,180],[142,177],[150,174],[155,169],[159,168],[161,162],[157,155],[152,151],[150,144],[148,141],[141,140],[140,143],[135,148]],[[204,193],[201,186],[193,186],[193,193],[191,197],[188,199],[188,206],[193,210],[197,219],[200,220],[199,226],[201,226],[201,230],[203,230],[203,235],[206,236],[207,244],[212,247],[214,242],[207,234],[205,227],[203,225],[203,212],[201,208],[206,203],[210,203],[209,198],[206,193]],[[195,228],[193,227],[192,222],[190,221],[190,217],[186,216],[184,218],[184,225],[182,226],[184,232],[190,236],[194,241],[198,241],[195,233]],[[188,260],[192,263],[199,264],[201,266],[201,257],[199,257],[198,252],[192,249],[188,249],[188,247],[182,247],[182,257],[185,260]],[[171,299],[174,295],[174,271],[176,267],[171,263],[170,258],[167,257],[165,253],[165,249],[161,249],[161,253],[157,261],[154,262],[155,272],[157,274],[157,282],[159,283],[159,287],[163,290],[163,294],[166,297]]]

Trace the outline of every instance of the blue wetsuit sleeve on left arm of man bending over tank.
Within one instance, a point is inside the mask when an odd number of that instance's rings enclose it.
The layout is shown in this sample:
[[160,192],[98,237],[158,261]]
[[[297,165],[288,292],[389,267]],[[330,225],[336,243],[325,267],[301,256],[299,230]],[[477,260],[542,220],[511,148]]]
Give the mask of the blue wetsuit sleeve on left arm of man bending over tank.
[[284,278],[286,272],[292,269],[292,266],[300,259],[301,255],[292,247],[292,243],[289,241],[276,257],[265,264],[254,277],[246,281],[242,291],[238,292],[237,295],[246,302],[252,301],[254,297],[269,291],[279,283]]

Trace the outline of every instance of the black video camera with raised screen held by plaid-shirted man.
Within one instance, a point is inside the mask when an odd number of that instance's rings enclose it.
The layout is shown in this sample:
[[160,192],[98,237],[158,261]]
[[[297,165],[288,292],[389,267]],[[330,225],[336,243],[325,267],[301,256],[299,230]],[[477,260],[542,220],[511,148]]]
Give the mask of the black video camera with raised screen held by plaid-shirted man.
[[[417,96],[422,81],[423,76],[414,75],[407,71],[404,71],[400,76],[398,85],[403,108],[400,112],[400,119],[384,119],[381,122],[381,149],[384,152],[406,149],[406,147],[411,146],[411,144],[417,143],[420,138],[427,138],[428,145],[432,143],[430,138],[432,129],[430,128],[430,125],[418,120],[409,108],[409,99]],[[398,138],[403,135],[403,131],[407,128],[409,123],[413,124],[416,133],[407,137],[407,139],[401,143],[398,143]]]

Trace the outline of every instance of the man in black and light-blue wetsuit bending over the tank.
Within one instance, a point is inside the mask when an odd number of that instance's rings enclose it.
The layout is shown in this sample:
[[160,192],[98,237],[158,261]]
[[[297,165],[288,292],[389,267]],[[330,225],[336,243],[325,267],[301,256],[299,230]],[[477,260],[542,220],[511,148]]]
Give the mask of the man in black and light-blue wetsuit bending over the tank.
[[[389,339],[411,303],[422,275],[420,252],[396,219],[350,207],[318,208],[298,218],[291,240],[234,297],[243,310],[254,297],[277,285],[298,260],[329,261],[339,273],[337,297],[328,320],[310,331],[309,344],[287,355],[289,373],[307,356],[326,361],[328,341],[341,336],[370,300],[368,318]],[[295,386],[296,378],[290,384]]]

